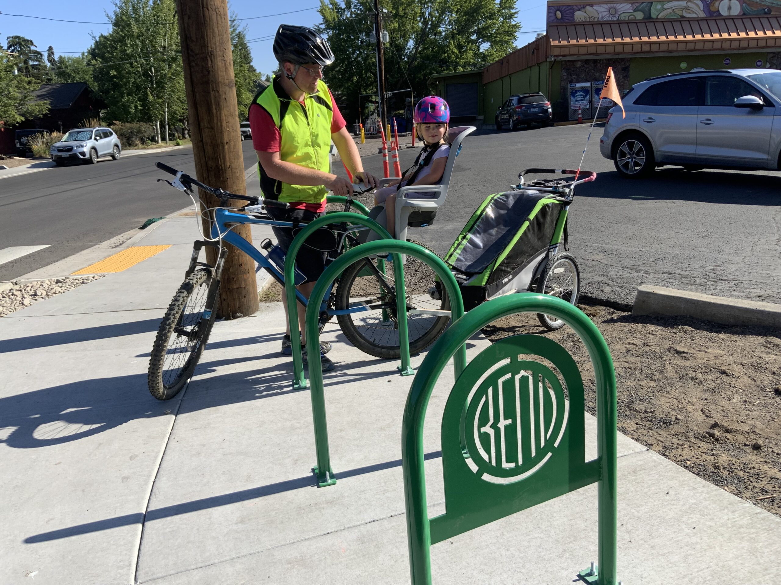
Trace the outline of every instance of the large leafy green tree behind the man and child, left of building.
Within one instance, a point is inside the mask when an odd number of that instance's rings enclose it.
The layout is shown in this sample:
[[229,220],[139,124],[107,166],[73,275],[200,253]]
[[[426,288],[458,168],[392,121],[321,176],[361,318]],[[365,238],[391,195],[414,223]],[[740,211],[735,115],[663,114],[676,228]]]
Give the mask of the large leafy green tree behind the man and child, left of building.
[[[381,0],[386,90],[429,94],[434,73],[476,69],[515,49],[515,0]],[[320,30],[336,57],[327,82],[346,115],[358,116],[358,94],[377,90],[373,0],[320,0]],[[392,108],[389,104],[389,108]]]

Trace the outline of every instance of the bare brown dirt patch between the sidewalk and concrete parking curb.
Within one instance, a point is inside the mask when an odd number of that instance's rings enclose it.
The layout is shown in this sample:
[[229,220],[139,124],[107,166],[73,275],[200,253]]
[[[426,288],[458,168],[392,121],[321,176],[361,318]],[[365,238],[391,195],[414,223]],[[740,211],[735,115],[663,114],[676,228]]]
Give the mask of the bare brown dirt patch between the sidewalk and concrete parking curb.
[[[613,356],[619,431],[781,516],[781,331],[580,308]],[[534,315],[512,315],[483,333],[555,339],[580,366],[595,413],[594,371],[571,330],[547,332]]]

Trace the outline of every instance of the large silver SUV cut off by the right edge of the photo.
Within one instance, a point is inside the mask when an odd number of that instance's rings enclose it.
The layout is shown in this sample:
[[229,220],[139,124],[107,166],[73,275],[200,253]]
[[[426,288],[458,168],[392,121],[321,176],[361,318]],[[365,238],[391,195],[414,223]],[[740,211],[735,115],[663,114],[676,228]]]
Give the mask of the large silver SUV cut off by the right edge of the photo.
[[637,83],[608,113],[604,158],[628,178],[654,168],[781,169],[781,71],[719,69]]

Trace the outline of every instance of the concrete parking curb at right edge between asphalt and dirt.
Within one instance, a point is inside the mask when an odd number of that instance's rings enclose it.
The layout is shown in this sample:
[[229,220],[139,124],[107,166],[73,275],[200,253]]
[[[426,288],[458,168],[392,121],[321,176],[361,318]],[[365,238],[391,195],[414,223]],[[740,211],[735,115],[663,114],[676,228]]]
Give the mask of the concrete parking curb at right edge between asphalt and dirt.
[[781,328],[781,305],[724,296],[690,293],[663,286],[637,288],[632,313],[694,317],[726,325],[761,325]]

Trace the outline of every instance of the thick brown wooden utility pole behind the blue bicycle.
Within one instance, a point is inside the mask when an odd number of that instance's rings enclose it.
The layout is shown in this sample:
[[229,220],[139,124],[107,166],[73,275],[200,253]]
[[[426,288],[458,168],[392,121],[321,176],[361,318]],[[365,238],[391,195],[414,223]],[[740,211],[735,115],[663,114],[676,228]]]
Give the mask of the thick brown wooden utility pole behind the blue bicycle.
[[[195,174],[201,183],[245,195],[227,0],[177,0],[177,13]],[[219,205],[209,193],[199,191],[199,197],[206,207]],[[237,207],[242,204],[237,202]],[[206,220],[204,230],[211,230]],[[252,241],[248,225],[233,231]],[[228,256],[219,287],[222,316],[251,315],[259,308],[255,263],[234,246],[223,245],[228,247]],[[206,248],[206,258],[212,265],[216,261],[211,246]]]

